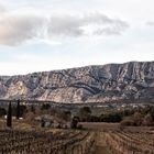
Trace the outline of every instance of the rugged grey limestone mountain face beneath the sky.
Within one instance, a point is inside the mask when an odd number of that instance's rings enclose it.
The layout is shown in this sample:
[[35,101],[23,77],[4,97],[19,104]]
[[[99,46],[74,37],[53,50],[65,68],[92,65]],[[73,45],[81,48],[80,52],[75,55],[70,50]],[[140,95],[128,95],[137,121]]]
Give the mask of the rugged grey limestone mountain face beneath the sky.
[[1,76],[0,99],[105,102],[154,99],[154,62],[130,62]]

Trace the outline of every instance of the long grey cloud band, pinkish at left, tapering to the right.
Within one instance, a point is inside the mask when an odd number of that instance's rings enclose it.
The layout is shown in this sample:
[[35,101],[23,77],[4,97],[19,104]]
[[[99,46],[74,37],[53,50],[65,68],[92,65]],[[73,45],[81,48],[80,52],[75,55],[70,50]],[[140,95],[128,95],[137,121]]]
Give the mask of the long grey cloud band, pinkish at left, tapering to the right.
[[55,42],[55,36],[76,38],[90,35],[120,35],[128,26],[127,22],[102,13],[77,15],[53,13],[50,18],[33,13],[20,15],[8,13],[0,18],[0,44],[15,46],[32,40],[44,42],[48,40],[51,43]]

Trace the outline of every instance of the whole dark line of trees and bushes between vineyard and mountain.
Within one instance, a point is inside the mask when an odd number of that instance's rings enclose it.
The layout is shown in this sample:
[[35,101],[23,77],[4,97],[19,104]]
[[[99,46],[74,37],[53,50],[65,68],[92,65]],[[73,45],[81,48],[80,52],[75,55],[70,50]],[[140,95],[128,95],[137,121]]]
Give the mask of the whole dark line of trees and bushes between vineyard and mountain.
[[[30,113],[36,113],[37,109],[34,106],[29,107],[20,105],[20,100],[16,101],[16,106],[12,106],[11,102],[8,106],[8,110],[0,108],[0,117],[7,114],[7,127],[12,127],[12,117],[16,120],[23,117],[29,117]],[[146,106],[144,108],[136,109],[123,109],[111,110],[110,112],[102,112],[99,116],[92,113],[90,107],[80,108],[76,114],[72,111],[53,109],[48,103],[40,107],[41,112],[50,113],[54,117],[72,122],[72,128],[76,128],[78,122],[120,122],[122,125],[154,125],[154,107]]]

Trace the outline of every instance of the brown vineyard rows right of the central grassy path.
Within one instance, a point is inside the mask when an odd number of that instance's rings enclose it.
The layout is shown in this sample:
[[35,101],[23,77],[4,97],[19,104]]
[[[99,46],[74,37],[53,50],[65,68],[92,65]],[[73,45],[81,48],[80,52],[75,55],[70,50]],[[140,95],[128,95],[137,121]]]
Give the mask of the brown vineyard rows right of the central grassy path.
[[154,154],[154,132],[116,131],[103,139],[111,154]]

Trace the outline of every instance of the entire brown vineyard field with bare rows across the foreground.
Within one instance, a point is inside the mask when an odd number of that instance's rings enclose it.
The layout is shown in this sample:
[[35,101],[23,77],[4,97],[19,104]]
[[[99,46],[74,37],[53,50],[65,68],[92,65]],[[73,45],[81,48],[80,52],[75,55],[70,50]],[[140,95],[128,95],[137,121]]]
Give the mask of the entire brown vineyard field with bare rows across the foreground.
[[[99,150],[98,150],[99,148]],[[154,154],[154,132],[0,130],[1,154]]]

